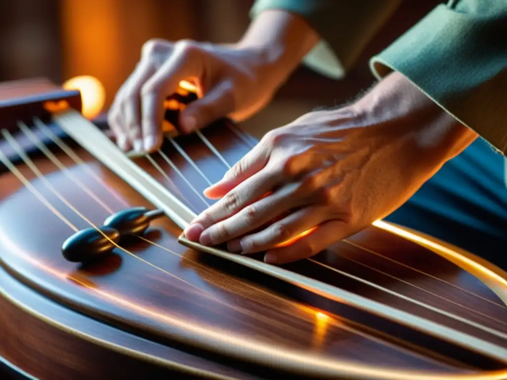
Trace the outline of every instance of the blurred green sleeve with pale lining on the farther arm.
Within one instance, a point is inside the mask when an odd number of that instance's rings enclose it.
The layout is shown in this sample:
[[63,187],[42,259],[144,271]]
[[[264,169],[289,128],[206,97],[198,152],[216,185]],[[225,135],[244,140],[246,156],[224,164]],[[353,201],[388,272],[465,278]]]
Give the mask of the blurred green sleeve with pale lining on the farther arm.
[[[304,63],[330,78],[343,78],[401,0],[257,0],[250,15],[281,9],[300,15],[321,38]],[[359,5],[360,4],[360,5]]]

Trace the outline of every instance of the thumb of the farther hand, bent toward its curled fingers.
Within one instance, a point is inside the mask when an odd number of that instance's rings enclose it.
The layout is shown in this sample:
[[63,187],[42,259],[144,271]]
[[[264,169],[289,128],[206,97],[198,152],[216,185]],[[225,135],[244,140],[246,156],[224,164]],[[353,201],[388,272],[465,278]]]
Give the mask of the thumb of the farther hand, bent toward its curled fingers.
[[179,126],[184,133],[206,127],[234,111],[234,90],[230,81],[222,81],[204,97],[190,103],[180,115]]

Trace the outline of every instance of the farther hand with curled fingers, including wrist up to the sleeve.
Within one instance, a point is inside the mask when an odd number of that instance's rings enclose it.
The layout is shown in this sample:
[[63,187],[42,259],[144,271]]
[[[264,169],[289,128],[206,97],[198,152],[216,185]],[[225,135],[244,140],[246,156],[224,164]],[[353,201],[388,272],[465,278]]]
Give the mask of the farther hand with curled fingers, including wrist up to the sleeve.
[[271,99],[317,42],[303,19],[279,10],[263,12],[233,45],[151,40],[118,91],[108,123],[123,150],[155,150],[162,142],[163,100],[184,80],[197,87],[199,99],[180,113],[182,132],[226,116],[244,120]]

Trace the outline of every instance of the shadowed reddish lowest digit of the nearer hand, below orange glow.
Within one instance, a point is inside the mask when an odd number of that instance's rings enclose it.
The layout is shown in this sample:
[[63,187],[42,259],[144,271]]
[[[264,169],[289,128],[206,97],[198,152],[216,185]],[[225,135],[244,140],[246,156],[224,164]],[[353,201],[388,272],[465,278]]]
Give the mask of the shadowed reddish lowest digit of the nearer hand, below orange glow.
[[349,228],[349,225],[341,220],[327,221],[295,243],[269,250],[264,255],[264,261],[283,264],[312,257],[331,244],[349,236]]

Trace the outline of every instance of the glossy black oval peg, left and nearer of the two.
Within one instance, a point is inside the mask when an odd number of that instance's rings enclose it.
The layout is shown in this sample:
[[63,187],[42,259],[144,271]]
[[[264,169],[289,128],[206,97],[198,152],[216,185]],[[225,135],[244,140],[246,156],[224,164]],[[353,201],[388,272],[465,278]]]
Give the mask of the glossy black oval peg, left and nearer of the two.
[[120,233],[111,227],[94,227],[79,231],[62,244],[63,257],[72,262],[87,262],[102,258],[115,249]]

